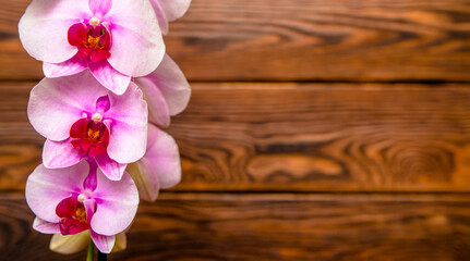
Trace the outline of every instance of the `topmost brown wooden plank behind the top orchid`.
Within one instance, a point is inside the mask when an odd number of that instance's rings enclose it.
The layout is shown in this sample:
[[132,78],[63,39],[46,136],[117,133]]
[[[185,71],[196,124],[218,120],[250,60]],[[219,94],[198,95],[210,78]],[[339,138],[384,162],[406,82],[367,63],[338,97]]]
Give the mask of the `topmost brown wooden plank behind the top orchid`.
[[[43,77],[0,0],[0,78]],[[469,0],[193,0],[167,49],[193,80],[470,80]]]

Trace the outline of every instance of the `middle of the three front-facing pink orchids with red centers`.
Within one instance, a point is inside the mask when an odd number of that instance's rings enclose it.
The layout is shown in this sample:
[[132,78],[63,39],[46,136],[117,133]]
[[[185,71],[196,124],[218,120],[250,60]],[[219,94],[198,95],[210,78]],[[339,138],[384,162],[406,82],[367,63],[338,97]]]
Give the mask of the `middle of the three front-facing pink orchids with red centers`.
[[46,167],[65,167],[89,157],[108,178],[119,181],[125,165],[145,153],[147,104],[133,83],[118,96],[89,72],[44,78],[31,91],[27,113],[47,138]]

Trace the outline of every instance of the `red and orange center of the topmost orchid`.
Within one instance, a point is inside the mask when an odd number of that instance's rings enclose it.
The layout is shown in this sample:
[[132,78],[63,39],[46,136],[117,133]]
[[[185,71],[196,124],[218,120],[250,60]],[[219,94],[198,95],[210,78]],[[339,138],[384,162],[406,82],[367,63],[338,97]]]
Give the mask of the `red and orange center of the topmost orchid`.
[[70,26],[68,40],[71,46],[77,47],[77,55],[84,62],[98,62],[111,55],[111,34],[96,17],[88,24],[77,23]]

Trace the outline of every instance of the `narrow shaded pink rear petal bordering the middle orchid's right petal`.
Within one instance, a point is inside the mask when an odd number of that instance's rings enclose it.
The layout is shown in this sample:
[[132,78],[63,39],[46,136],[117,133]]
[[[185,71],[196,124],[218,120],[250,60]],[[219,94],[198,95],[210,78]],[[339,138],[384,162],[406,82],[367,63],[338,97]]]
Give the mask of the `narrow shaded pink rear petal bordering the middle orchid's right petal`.
[[135,78],[135,84],[144,94],[148,107],[148,122],[168,127],[170,125],[170,111],[161,91],[147,78]]

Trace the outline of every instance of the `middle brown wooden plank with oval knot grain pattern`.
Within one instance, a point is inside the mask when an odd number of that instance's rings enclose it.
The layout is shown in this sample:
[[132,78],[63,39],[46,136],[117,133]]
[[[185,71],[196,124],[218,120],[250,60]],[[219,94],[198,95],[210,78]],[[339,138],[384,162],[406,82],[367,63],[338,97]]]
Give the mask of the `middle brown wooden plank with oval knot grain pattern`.
[[[33,83],[0,85],[0,189],[21,190],[44,142]],[[470,191],[467,85],[193,84],[169,132],[180,191]],[[52,121],[52,120],[51,120]]]

